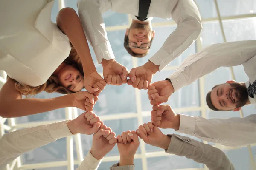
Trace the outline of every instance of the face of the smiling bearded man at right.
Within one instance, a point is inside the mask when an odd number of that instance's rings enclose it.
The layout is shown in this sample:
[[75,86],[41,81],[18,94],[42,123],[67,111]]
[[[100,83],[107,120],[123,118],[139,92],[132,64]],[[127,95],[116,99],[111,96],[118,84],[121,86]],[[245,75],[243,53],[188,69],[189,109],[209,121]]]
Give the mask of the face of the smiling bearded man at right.
[[228,81],[218,85],[211,92],[212,104],[222,111],[238,111],[248,101],[247,88],[237,82]]

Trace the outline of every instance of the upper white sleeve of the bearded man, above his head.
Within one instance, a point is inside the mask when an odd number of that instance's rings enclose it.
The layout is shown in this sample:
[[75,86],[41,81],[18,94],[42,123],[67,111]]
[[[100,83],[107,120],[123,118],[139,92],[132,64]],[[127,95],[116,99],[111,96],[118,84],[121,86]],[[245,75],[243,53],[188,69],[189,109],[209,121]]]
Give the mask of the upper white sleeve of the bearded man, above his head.
[[187,57],[168,78],[175,91],[219,67],[241,65],[256,54],[256,40],[213,44]]

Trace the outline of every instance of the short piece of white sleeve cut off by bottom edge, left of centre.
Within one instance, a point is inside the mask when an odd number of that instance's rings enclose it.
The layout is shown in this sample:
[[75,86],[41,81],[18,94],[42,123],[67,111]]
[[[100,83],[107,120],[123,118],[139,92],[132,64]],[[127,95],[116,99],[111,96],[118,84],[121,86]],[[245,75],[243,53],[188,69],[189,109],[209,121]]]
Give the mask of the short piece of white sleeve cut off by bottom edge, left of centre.
[[76,170],[97,170],[101,162],[102,159],[98,160],[94,158],[89,150],[87,156],[84,158],[84,161]]

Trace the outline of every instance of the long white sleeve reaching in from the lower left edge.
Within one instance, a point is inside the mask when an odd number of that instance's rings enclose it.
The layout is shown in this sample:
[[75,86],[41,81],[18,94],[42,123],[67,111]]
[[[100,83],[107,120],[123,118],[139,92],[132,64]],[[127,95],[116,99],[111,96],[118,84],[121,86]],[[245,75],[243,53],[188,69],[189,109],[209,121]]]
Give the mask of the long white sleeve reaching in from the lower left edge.
[[71,136],[67,122],[56,122],[4,134],[0,138],[0,169],[23,153]]

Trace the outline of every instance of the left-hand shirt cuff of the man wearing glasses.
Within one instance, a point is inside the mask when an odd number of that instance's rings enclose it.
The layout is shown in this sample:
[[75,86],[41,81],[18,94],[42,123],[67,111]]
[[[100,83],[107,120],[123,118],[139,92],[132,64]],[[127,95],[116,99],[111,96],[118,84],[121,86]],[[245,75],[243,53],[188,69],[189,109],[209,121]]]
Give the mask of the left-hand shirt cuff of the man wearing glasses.
[[102,42],[99,45],[93,45],[93,50],[95,52],[98,63],[102,63],[102,59],[111,60],[115,59],[113,50],[109,41]]

